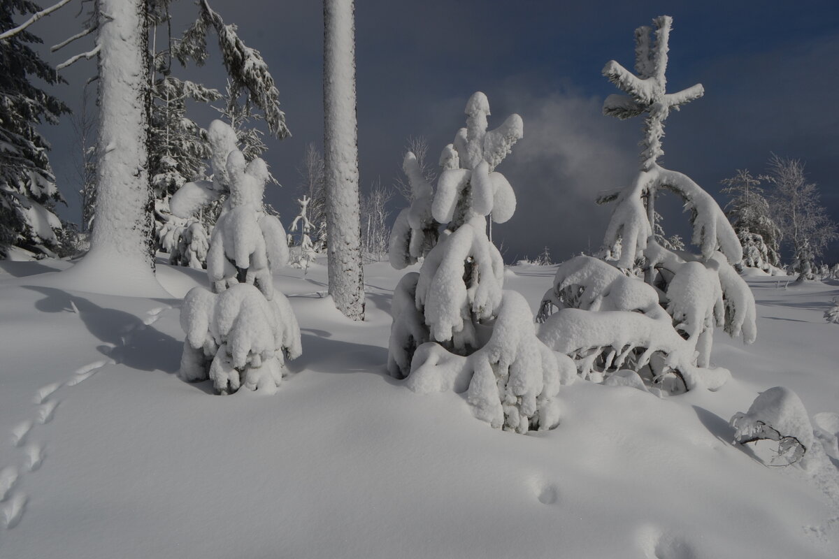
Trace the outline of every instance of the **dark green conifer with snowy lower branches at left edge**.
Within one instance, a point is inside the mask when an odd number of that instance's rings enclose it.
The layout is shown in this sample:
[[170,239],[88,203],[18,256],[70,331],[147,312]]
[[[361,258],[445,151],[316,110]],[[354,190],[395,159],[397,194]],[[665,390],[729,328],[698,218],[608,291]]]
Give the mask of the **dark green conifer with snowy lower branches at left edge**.
[[[16,14],[32,18],[39,12],[28,0],[3,2],[0,32],[18,28]],[[58,248],[61,222],[53,209],[63,199],[47,155],[50,146],[37,128],[57,123],[69,109],[33,83],[64,83],[30,46],[41,42],[24,29],[0,40],[0,258],[9,246],[42,255]]]

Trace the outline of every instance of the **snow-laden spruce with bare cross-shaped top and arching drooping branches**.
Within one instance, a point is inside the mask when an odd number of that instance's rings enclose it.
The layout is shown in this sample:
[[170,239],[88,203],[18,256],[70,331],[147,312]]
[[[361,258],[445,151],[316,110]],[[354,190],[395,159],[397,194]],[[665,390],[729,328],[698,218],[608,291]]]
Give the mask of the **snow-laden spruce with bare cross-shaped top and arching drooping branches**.
[[[654,39],[649,27],[636,31],[638,75],[614,60],[603,69],[626,93],[609,96],[604,114],[622,119],[645,115],[641,170],[626,189],[599,197],[600,203],[615,202],[603,241],[606,261],[578,257],[560,265],[539,311],[545,321],[539,335],[571,355],[586,378],[632,369],[644,371],[642,376],[656,384],[673,374],[688,390],[716,390],[729,373],[711,365],[713,329],[722,326],[745,343],[753,342],[754,298],[734,269],[743,259],[743,247],[717,202],[684,174],[658,163],[671,109],[704,91],[701,85],[665,91],[671,24],[668,16],[655,18]],[[690,241],[698,253],[676,250],[677,244],[664,235],[654,207],[661,189],[679,195],[690,210]],[[638,265],[646,285],[633,274]],[[559,310],[550,315],[552,308]]]

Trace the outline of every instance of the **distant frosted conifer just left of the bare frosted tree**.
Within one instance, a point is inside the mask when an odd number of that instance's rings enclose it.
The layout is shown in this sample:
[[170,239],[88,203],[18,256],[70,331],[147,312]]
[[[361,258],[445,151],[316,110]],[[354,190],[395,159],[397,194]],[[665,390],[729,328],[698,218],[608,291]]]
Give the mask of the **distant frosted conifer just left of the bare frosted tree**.
[[743,245],[744,267],[755,267],[769,272],[780,266],[779,242],[781,232],[771,215],[769,202],[763,196],[760,179],[748,169],[737,169],[733,177],[723,179],[721,192],[732,199],[726,204],[726,214]]

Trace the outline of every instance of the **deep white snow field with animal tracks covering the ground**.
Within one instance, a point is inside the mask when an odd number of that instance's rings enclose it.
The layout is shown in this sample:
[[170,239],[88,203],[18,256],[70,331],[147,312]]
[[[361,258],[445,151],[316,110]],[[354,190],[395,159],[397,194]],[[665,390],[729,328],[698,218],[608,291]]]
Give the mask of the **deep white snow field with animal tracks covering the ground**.
[[[364,323],[322,265],[277,272],[304,353],[276,395],[227,397],[175,375],[204,273],[159,265],[172,297],[128,298],[68,289],[68,266],[0,261],[3,559],[839,556],[835,448],[770,467],[728,425],[783,385],[839,430],[836,285],[749,277],[758,341],[717,330],[720,391],[577,380],[560,426],[523,436],[388,376],[387,263],[366,268]],[[554,272],[510,267],[505,288],[535,311]]]

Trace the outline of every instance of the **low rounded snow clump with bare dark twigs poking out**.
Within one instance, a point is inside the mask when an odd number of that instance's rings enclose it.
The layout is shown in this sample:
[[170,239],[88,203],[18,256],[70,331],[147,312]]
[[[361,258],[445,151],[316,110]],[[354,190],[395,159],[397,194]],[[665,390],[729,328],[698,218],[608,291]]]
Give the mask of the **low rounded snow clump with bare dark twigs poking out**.
[[[745,444],[769,439],[778,441],[778,458],[796,463],[813,445],[813,427],[804,404],[795,392],[775,386],[755,398],[748,411],[731,419],[734,440]],[[805,463],[802,461],[802,465]]]

